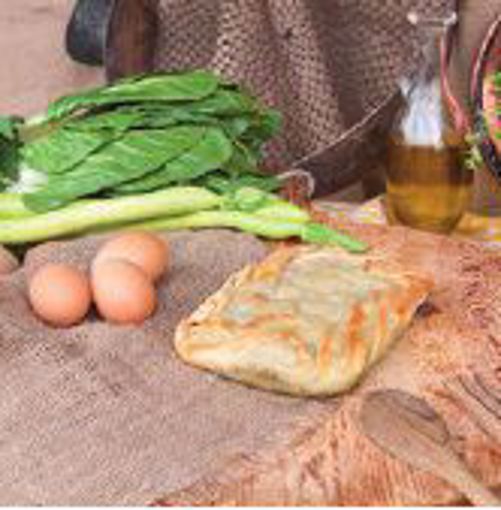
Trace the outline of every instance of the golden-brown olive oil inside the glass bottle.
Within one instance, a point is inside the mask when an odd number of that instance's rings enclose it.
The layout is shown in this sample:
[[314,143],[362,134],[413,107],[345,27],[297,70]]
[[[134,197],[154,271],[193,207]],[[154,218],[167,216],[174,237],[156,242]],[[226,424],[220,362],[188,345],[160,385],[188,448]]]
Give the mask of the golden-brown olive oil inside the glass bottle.
[[465,147],[410,145],[392,137],[388,147],[386,207],[390,222],[447,233],[468,207],[473,172],[464,165]]

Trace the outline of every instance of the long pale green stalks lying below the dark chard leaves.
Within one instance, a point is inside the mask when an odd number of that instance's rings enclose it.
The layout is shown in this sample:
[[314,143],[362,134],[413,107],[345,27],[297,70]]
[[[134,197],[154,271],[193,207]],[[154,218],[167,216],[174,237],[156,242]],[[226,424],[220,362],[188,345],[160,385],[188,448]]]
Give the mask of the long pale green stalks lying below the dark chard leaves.
[[[0,197],[0,205],[1,202]],[[0,243],[21,244],[130,227],[148,230],[236,228],[268,239],[299,237],[317,244],[342,246],[356,253],[367,249],[364,243],[346,234],[311,222],[308,213],[299,207],[259,190],[241,189],[228,200],[195,187],[83,200],[46,214],[0,219]]]

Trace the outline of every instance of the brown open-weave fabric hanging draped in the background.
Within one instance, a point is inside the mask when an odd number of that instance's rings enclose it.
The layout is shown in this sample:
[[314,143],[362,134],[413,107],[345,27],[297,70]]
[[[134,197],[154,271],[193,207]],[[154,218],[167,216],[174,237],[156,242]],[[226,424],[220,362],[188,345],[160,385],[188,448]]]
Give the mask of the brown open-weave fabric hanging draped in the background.
[[323,193],[374,166],[397,81],[417,65],[415,10],[453,0],[160,0],[157,69],[211,68],[284,114],[272,170],[310,170]]

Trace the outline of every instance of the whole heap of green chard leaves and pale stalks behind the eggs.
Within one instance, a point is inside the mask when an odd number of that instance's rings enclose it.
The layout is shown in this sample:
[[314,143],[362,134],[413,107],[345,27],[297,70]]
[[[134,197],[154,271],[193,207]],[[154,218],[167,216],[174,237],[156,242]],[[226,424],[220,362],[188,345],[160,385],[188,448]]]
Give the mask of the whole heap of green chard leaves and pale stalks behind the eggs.
[[136,76],[0,117],[0,243],[135,228],[237,228],[362,251],[273,195],[278,112],[208,71]]

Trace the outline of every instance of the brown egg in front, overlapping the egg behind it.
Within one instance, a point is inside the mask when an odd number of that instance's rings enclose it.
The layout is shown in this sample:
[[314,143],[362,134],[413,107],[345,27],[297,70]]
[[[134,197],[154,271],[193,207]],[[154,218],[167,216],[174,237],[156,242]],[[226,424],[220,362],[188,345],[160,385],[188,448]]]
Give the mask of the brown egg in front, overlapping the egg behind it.
[[117,324],[141,324],[157,305],[149,276],[126,260],[101,260],[95,264],[92,291],[101,316]]

